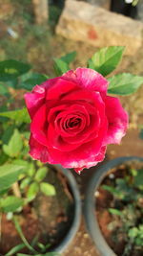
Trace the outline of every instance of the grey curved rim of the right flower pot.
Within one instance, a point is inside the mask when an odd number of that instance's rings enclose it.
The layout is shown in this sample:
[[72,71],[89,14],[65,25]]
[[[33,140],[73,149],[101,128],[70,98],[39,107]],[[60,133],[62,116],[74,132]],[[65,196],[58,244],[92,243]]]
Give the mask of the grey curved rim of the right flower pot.
[[104,177],[107,175],[107,172],[125,162],[129,161],[141,161],[143,162],[143,157],[137,156],[123,156],[115,158],[105,165],[101,166],[97,171],[95,171],[92,179],[88,184],[88,188],[86,191],[86,197],[84,200],[84,218],[86,221],[87,229],[92,237],[92,241],[95,244],[96,248],[98,249],[99,253],[102,256],[116,256],[116,254],[112,251],[112,248],[109,244],[107,244],[106,240],[104,239],[98,221],[95,217],[95,197],[94,192],[97,190],[99,185],[101,184]]

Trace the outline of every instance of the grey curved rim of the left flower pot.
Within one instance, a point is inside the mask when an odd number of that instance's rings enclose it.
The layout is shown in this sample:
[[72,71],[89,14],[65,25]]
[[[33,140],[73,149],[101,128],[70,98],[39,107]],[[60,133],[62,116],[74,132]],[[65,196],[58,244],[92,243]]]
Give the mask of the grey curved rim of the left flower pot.
[[72,220],[71,228],[69,229],[67,235],[61,241],[61,243],[51,249],[51,251],[63,253],[68,248],[68,246],[72,243],[72,240],[78,231],[78,228],[79,228],[79,225],[81,222],[81,199],[80,199],[80,193],[79,193],[79,189],[78,189],[76,180],[75,180],[74,176],[72,175],[72,171],[63,168],[60,165],[53,165],[53,168],[56,169],[57,171],[61,172],[63,175],[65,175],[67,177],[70,187],[71,187],[71,190],[72,190],[72,195],[74,198],[74,205],[75,205],[74,217]]

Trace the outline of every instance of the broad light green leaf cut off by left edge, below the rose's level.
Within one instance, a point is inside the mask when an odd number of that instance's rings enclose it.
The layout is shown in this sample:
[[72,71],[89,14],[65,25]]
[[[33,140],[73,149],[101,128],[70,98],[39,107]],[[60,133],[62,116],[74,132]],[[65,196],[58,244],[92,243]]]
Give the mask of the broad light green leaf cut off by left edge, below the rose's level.
[[10,188],[10,186],[18,180],[18,176],[22,174],[23,166],[5,164],[0,166],[0,191]]

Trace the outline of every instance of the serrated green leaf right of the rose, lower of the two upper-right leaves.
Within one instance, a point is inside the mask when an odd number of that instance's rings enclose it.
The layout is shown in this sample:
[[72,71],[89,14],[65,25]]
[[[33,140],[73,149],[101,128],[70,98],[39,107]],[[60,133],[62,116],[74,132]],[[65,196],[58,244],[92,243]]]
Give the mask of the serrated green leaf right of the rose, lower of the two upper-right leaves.
[[108,92],[118,95],[129,95],[135,92],[143,83],[143,77],[129,73],[115,75],[108,79],[110,81]]

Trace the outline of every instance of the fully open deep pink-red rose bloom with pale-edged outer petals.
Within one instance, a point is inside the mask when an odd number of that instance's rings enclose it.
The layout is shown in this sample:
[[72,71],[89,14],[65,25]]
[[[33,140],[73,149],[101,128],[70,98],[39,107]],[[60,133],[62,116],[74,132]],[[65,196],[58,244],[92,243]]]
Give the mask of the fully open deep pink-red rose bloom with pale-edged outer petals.
[[79,174],[101,162],[107,145],[120,143],[128,126],[126,111],[107,88],[99,73],[77,68],[26,93],[31,156]]

